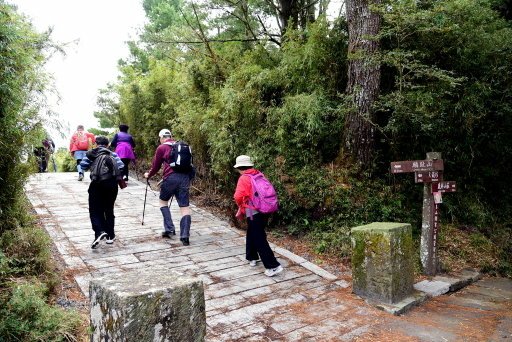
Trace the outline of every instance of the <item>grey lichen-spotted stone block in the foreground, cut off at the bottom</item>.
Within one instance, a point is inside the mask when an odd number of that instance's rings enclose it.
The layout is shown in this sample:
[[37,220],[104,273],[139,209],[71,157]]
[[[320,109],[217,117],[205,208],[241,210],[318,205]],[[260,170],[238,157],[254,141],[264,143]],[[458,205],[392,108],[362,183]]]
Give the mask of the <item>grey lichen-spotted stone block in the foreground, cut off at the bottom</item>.
[[203,283],[147,268],[93,279],[91,341],[204,341]]

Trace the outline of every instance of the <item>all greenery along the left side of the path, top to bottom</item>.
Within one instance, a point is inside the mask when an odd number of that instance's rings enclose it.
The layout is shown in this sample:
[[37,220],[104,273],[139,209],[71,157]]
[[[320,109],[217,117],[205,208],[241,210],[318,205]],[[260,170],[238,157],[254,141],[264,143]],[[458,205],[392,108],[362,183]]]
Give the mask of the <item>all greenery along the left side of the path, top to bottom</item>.
[[[81,329],[74,312],[48,304],[58,284],[50,238],[36,225],[23,194],[35,168],[32,146],[46,135],[42,66],[54,52],[50,32],[37,33],[15,7],[0,0],[0,339],[73,341]],[[46,113],[48,113],[46,111]]]

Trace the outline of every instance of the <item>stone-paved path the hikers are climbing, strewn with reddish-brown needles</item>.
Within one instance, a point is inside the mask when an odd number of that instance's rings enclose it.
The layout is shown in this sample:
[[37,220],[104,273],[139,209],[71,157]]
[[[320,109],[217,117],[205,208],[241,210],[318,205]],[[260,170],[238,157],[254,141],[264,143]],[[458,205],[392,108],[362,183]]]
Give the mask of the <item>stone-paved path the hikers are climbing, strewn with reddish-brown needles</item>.
[[[116,201],[114,245],[92,250],[86,181],[75,173],[34,175],[26,192],[66,266],[88,296],[106,272],[168,265],[203,280],[207,341],[511,341],[512,281],[484,279],[394,317],[351,293],[349,283],[272,246],[285,271],[273,278],[244,260],[243,232],[192,206],[191,245],[162,239],[158,193],[130,180]],[[176,227],[179,209],[171,208]],[[349,279],[348,279],[349,280]]]

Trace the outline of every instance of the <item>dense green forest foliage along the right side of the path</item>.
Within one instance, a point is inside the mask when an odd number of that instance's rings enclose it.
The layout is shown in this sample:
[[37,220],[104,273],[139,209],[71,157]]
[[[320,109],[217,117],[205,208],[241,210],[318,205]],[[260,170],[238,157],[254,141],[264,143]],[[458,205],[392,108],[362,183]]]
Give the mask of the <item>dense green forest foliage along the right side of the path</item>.
[[358,58],[347,55],[346,19],[298,11],[303,19],[285,29],[271,3],[144,1],[148,23],[95,115],[105,127],[128,124],[142,158],[170,128],[194,147],[209,191],[227,198],[235,157],[253,156],[279,192],[275,223],[341,255],[354,225],[405,221],[419,231],[421,186],[412,174],[390,176],[389,163],[441,152],[445,179],[458,184],[444,197],[442,220],[495,238],[499,267],[510,270],[508,5],[390,0],[373,8],[382,16],[369,37],[380,42],[370,61],[382,75],[377,141],[371,167],[360,170],[342,142],[352,106],[347,65]]

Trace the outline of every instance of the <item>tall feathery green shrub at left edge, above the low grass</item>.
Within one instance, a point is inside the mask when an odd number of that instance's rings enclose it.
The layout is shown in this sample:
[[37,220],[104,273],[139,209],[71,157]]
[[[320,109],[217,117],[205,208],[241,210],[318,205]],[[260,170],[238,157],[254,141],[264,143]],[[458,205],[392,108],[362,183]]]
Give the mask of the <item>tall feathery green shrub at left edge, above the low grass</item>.
[[40,144],[37,92],[48,37],[35,33],[11,5],[0,3],[0,233],[18,226],[23,184],[33,164],[22,163]]

